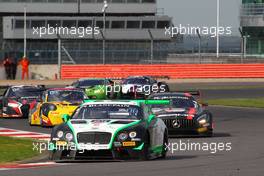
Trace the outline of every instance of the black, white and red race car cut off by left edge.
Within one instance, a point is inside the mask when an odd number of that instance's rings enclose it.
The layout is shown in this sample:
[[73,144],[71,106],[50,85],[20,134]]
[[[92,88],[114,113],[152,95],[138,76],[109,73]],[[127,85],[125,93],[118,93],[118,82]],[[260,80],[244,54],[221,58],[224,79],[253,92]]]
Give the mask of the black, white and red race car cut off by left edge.
[[7,86],[0,97],[0,117],[28,118],[44,90],[44,86]]

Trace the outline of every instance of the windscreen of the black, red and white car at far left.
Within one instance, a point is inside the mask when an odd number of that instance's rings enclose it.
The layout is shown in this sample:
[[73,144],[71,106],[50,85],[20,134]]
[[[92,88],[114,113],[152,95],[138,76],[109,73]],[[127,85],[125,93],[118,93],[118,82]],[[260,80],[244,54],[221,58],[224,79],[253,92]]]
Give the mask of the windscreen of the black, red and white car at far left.
[[9,97],[40,97],[43,89],[37,87],[14,87],[9,93]]

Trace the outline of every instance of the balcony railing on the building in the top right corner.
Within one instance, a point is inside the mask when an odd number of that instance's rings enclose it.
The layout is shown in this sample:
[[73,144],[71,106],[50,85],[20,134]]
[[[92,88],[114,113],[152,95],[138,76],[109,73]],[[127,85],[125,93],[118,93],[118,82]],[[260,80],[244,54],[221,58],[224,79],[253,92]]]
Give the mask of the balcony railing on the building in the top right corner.
[[241,16],[260,15],[264,16],[264,3],[243,4],[240,9]]

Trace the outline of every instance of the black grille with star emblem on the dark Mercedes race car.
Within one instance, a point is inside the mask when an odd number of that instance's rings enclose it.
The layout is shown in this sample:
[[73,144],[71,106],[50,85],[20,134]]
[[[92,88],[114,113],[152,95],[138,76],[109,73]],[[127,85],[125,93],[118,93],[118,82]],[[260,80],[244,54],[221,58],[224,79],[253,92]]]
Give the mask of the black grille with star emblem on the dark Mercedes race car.
[[[177,124],[175,125],[175,120],[177,120]],[[174,128],[174,129],[192,129],[196,127],[196,121],[195,120],[188,120],[188,119],[163,119],[165,125],[168,128]]]

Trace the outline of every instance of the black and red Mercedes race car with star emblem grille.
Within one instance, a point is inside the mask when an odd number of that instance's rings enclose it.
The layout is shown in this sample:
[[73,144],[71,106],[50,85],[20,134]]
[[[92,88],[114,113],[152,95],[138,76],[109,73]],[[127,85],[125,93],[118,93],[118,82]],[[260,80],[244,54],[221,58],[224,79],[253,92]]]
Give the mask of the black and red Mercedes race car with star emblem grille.
[[[199,95],[199,92],[193,92]],[[213,116],[199,104],[191,93],[158,93],[149,97],[156,100],[171,100],[170,105],[152,105],[152,111],[164,121],[169,137],[212,136]]]

